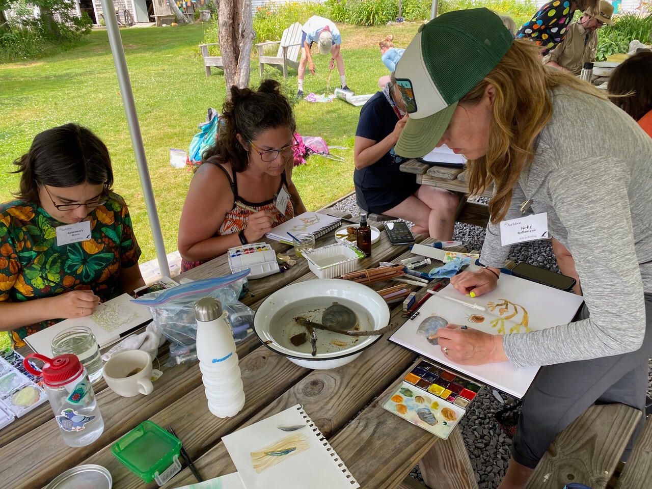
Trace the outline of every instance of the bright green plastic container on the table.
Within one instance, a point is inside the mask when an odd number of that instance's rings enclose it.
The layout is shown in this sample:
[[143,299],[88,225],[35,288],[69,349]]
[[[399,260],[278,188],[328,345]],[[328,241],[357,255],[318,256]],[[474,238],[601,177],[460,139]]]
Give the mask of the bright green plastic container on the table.
[[111,453],[143,481],[159,486],[181,470],[181,441],[146,420],[111,445]]

